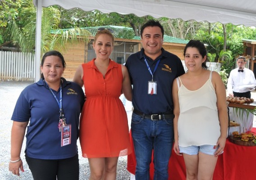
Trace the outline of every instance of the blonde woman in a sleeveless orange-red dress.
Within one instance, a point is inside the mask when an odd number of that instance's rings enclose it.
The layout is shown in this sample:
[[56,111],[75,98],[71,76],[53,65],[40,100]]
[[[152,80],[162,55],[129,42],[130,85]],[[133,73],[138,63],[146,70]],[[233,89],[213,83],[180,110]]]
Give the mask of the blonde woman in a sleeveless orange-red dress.
[[84,85],[86,102],[80,117],[82,156],[90,165],[90,180],[115,180],[119,156],[132,152],[128,119],[121,93],[132,99],[132,86],[125,66],[110,59],[114,36],[107,30],[96,33],[96,58],[78,67],[73,81]]

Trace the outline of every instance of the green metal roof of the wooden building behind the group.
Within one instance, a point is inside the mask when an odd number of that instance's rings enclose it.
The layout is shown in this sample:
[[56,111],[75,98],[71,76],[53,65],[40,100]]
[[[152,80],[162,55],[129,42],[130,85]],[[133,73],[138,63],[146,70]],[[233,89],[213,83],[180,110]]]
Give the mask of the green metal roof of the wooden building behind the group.
[[[81,29],[86,29],[87,31],[89,31],[91,33],[91,36],[95,36],[97,31],[98,31],[98,28],[100,27],[105,27],[105,29],[111,29],[114,31],[114,37],[115,38],[121,38],[119,36],[119,34],[121,32],[123,32],[123,30],[127,29],[127,30],[130,30],[130,31],[133,31],[133,28],[131,27],[123,27],[123,26],[97,26],[97,27],[82,27]],[[68,29],[61,29],[62,31],[65,31],[65,30],[68,30]],[[52,30],[50,31],[51,33],[56,33],[57,31],[59,30]],[[140,36],[134,36],[132,38],[133,40],[141,40],[141,37]],[[177,43],[177,44],[187,44],[189,40],[183,40],[183,39],[179,39],[179,38],[176,38],[176,37],[172,37],[172,36],[166,36],[164,35],[164,42],[167,42],[167,43]]]

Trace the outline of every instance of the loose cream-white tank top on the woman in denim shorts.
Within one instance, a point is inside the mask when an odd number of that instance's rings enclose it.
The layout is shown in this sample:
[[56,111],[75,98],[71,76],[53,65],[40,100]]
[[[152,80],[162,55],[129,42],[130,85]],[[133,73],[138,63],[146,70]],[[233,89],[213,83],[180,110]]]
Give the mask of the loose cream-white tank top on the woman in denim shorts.
[[[212,72],[204,85],[198,90],[188,90],[181,79],[178,83],[180,114],[178,117],[178,144],[216,145],[220,136],[217,96],[211,82]],[[179,86],[179,81],[181,85]]]

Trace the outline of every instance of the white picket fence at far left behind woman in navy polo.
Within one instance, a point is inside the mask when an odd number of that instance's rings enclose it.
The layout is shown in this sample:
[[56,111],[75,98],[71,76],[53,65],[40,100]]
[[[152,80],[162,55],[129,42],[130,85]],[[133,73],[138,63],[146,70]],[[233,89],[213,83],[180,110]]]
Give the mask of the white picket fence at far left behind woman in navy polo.
[[0,51],[0,81],[34,81],[32,53]]

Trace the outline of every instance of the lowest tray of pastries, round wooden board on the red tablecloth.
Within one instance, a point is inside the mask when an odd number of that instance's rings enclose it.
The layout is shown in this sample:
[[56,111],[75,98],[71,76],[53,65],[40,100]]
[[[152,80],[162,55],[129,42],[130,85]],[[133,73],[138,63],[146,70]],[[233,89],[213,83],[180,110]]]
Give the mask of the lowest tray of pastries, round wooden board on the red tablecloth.
[[234,144],[242,146],[256,146],[256,136],[251,132],[239,134],[238,131],[233,131],[229,140]]

